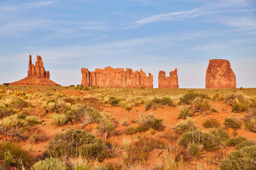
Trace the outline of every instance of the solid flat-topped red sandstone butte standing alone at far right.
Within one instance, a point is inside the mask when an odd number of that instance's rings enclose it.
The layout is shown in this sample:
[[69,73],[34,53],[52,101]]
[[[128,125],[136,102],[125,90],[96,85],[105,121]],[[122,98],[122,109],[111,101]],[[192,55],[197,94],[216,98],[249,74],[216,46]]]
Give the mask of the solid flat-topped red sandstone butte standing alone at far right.
[[206,88],[236,88],[236,75],[230,61],[213,59],[206,70]]

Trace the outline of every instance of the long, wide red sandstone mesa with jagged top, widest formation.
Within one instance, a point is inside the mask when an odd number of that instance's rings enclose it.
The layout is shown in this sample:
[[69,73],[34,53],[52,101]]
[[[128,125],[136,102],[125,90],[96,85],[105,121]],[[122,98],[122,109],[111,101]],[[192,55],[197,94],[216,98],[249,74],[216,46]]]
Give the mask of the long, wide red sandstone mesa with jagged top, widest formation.
[[142,71],[126,68],[105,67],[105,69],[95,69],[90,72],[87,68],[81,69],[81,85],[85,87],[103,87],[103,88],[153,88],[153,76],[148,76]]

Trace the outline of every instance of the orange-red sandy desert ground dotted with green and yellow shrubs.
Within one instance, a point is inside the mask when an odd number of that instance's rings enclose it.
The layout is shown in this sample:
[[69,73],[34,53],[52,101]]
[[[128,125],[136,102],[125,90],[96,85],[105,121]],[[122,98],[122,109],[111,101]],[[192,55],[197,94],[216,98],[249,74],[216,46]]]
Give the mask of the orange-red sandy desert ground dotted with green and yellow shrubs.
[[255,169],[256,88],[0,85],[0,169]]

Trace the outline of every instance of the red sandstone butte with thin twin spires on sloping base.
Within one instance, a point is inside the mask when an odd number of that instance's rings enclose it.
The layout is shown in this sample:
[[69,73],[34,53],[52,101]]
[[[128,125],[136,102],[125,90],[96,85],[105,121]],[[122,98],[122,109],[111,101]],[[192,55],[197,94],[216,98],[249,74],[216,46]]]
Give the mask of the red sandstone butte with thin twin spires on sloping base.
[[50,80],[50,72],[44,70],[44,63],[41,56],[36,57],[35,65],[32,64],[32,56],[29,55],[28,76],[10,85],[57,85]]

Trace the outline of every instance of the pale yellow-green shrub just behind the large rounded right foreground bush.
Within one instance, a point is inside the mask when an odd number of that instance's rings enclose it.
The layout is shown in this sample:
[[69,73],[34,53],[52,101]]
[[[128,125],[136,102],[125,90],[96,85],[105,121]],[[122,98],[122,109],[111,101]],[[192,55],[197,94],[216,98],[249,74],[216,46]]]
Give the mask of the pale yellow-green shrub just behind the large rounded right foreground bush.
[[197,130],[197,126],[193,118],[187,118],[185,121],[179,121],[173,129],[174,133],[182,134],[187,131]]

